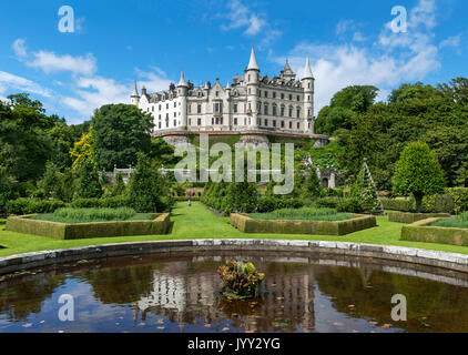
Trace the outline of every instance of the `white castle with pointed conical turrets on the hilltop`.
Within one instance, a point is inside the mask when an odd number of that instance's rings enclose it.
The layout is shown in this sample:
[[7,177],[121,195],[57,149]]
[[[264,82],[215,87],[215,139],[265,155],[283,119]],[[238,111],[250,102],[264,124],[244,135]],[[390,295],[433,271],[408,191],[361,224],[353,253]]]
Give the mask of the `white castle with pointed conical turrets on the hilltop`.
[[136,82],[131,103],[154,118],[153,133],[186,132],[284,132],[314,134],[314,84],[309,59],[303,78],[296,79],[288,62],[279,77],[261,77],[255,50],[244,75],[232,83],[194,87],[185,82],[167,91],[139,94]]

